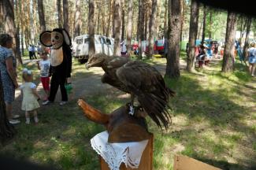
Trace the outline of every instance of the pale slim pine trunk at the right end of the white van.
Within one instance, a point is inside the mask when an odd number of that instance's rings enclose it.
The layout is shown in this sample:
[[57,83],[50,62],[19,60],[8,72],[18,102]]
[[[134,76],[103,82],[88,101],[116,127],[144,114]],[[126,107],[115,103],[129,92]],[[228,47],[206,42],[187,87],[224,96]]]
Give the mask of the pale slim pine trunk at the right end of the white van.
[[115,12],[114,12],[114,25],[115,25],[115,44],[113,54],[120,56],[121,54],[121,2],[120,0],[115,1]]

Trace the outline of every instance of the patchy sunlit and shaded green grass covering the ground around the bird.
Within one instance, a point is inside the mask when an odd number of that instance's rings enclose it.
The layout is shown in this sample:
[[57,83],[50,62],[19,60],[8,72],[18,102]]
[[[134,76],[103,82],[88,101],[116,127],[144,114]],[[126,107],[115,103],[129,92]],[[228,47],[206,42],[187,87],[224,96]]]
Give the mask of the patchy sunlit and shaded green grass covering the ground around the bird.
[[[185,60],[181,52],[181,60]],[[165,58],[148,60],[150,65],[164,65]],[[27,65],[37,74],[35,65]],[[222,73],[221,63],[195,73],[181,71],[180,79],[165,79],[176,91],[171,99],[173,124],[161,131],[147,117],[154,133],[154,169],[173,169],[175,154],[184,154],[222,169],[255,169],[256,113],[255,80],[236,63],[236,71]],[[84,65],[73,62],[75,79],[87,76]],[[85,96],[87,102],[111,113],[127,98],[117,98],[117,91]],[[105,128],[87,120],[76,100],[59,107],[39,109],[37,126],[18,124],[15,138],[2,146],[0,153],[48,164],[61,169],[99,169],[98,154],[90,139]]]

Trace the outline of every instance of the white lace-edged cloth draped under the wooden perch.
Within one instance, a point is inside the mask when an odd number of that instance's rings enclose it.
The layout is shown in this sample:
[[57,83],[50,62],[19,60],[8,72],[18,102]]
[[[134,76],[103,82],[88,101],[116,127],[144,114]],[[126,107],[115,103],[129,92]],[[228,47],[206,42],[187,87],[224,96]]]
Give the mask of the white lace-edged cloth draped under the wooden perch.
[[122,162],[126,167],[139,168],[140,158],[148,140],[109,143],[108,137],[107,131],[98,133],[91,139],[91,146],[109,164],[109,168],[118,170]]

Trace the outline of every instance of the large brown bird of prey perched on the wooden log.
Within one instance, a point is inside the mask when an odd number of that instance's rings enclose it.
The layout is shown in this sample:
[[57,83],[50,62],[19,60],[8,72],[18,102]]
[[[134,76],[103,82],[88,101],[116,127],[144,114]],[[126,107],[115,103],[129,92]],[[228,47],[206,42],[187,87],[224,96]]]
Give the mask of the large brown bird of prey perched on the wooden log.
[[166,86],[160,72],[143,61],[132,61],[128,57],[94,54],[87,61],[87,68],[102,67],[105,74],[102,83],[108,83],[136,98],[139,106],[151,117],[158,127],[167,128],[170,114],[169,97],[175,92]]

